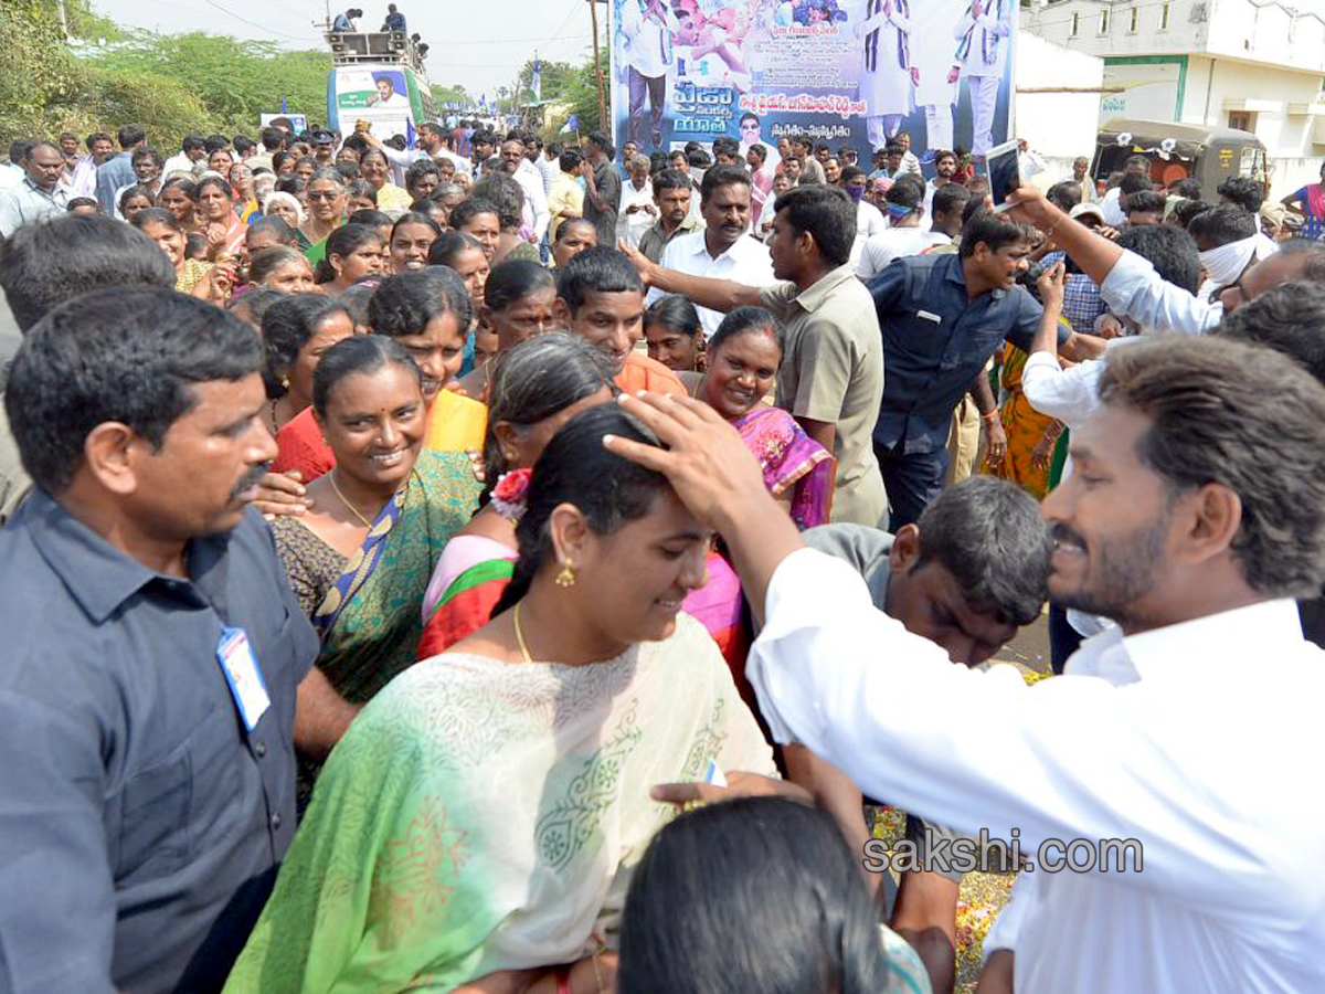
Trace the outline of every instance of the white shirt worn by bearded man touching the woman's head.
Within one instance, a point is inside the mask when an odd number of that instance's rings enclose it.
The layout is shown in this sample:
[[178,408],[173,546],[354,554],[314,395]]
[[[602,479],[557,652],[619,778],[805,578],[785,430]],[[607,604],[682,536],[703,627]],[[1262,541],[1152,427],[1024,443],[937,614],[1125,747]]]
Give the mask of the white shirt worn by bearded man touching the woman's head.
[[[1018,994],[1325,990],[1325,652],[1292,600],[1114,630],[1034,687],[951,665],[808,549],[766,616],[746,676],[779,742],[957,831],[1019,830],[1037,865],[994,937]],[[1051,838],[1137,839],[1143,863],[1049,873]]]

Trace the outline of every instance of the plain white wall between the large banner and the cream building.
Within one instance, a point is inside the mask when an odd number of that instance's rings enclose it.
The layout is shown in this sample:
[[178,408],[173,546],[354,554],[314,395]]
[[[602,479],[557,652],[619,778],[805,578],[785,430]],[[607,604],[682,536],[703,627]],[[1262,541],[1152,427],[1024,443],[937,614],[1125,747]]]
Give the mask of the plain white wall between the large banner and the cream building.
[[[1089,156],[1097,133],[1096,109],[1104,60],[1055,45],[1030,32],[1016,38],[1016,137],[1024,138],[1049,166],[1037,180],[1072,175],[1072,160]],[[1024,93],[1039,87],[1081,93]]]

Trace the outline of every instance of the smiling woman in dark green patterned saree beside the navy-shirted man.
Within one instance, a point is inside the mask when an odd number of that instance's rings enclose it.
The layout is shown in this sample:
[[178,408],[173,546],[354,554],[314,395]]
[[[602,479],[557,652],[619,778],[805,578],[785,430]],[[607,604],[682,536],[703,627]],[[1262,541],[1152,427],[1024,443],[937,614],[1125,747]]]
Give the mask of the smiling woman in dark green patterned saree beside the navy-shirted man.
[[[322,636],[295,724],[322,759],[350,720],[415,660],[432,567],[477,506],[469,457],[423,449],[421,374],[395,339],[347,338],[313,374],[313,408],[337,456],[311,506],[272,522],[299,604]],[[311,785],[301,771],[301,789]]]

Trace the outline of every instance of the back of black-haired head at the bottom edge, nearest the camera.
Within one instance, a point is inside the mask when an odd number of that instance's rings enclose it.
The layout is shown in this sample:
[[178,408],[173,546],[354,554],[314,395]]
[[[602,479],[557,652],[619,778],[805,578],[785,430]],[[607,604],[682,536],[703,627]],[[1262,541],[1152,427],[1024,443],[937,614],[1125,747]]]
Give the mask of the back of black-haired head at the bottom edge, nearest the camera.
[[767,797],[710,804],[664,826],[635,869],[616,989],[892,990],[877,922],[859,856],[823,811]]

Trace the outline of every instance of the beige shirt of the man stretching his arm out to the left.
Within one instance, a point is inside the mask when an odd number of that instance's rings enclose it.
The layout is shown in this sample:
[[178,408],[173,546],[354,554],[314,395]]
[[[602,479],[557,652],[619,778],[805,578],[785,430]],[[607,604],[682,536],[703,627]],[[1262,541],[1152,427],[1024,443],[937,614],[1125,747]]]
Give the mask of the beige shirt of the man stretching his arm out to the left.
[[799,294],[791,282],[766,286],[759,301],[786,326],[779,406],[836,425],[831,521],[877,526],[888,510],[871,437],[884,400],[884,342],[869,290],[843,265]]

